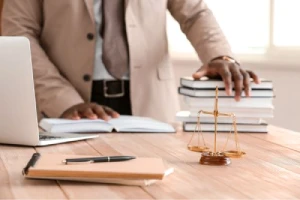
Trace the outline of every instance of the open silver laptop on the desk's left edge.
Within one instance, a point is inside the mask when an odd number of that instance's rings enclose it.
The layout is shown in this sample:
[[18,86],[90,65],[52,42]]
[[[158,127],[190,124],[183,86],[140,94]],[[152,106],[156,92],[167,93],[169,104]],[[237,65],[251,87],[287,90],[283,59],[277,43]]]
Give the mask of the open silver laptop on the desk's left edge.
[[98,137],[97,134],[39,133],[30,43],[0,37],[0,143],[45,146]]

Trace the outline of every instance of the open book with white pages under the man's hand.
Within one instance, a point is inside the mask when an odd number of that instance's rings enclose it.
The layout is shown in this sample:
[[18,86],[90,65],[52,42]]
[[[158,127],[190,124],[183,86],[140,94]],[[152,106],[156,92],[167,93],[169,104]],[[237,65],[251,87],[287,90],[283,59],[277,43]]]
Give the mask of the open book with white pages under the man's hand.
[[45,118],[39,123],[45,131],[59,132],[138,132],[138,133],[173,133],[175,129],[167,124],[151,118],[120,116],[119,118],[104,121],[101,119],[89,120],[67,120]]

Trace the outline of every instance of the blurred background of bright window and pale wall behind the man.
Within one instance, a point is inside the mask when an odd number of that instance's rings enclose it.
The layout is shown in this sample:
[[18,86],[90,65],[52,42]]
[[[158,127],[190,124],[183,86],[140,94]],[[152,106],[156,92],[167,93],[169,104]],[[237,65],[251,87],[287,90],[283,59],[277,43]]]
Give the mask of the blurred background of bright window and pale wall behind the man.
[[[276,98],[270,124],[300,131],[300,0],[206,0],[236,58],[271,79]],[[179,85],[201,63],[178,23],[168,15],[170,53]],[[186,109],[182,103],[181,109]]]

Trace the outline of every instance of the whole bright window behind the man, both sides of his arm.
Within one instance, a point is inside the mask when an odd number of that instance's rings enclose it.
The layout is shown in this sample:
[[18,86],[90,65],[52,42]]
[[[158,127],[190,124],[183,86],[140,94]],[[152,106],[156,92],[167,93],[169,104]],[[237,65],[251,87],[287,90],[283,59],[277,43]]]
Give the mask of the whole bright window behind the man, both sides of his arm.
[[[279,59],[300,54],[300,0],[206,0],[237,55]],[[168,16],[170,50],[196,56],[178,23]],[[291,51],[292,50],[292,51]],[[276,56],[274,56],[276,55]],[[298,63],[299,63],[298,60]]]

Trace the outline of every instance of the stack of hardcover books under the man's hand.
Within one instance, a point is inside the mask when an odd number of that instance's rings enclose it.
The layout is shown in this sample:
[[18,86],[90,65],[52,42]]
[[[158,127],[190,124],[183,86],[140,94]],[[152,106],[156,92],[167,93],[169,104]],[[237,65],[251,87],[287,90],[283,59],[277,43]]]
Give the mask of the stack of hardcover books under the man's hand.
[[[184,103],[188,106],[187,111],[180,111],[176,118],[183,122],[184,131],[194,131],[197,116],[200,110],[213,112],[215,105],[215,90],[218,87],[218,111],[220,113],[233,113],[236,116],[238,132],[267,133],[267,123],[264,121],[273,118],[274,115],[274,90],[270,80],[261,79],[260,84],[251,82],[251,97],[242,93],[240,101],[234,99],[234,88],[232,96],[225,92],[222,80],[208,79],[194,80],[191,77],[183,77],[178,88],[179,94],[183,95]],[[201,114],[200,122],[203,132],[214,131],[214,116]],[[231,117],[217,119],[218,131],[233,131],[233,120]]]

